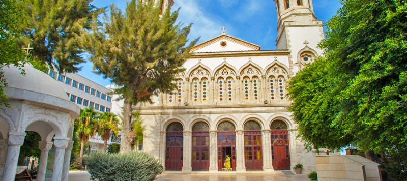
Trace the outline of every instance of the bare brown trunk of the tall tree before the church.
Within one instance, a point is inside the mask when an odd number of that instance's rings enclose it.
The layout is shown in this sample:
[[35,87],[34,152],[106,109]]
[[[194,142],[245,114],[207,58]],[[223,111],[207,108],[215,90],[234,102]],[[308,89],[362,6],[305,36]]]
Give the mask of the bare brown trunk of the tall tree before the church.
[[128,139],[127,136],[132,133],[132,125],[131,125],[131,112],[132,112],[132,103],[131,102],[127,102],[124,101],[124,110],[123,110],[123,131],[124,131],[124,135],[126,137],[125,139],[125,143],[124,143],[124,152],[131,152],[132,150],[132,145],[134,144],[134,142],[132,143],[131,140],[132,139]]

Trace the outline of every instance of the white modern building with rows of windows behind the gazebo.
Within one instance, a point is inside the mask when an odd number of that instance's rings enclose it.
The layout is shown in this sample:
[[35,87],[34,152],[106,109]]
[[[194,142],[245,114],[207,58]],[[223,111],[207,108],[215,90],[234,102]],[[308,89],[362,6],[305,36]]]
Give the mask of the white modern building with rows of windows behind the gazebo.
[[[110,112],[112,107],[112,91],[79,74],[63,73],[48,70],[47,74],[64,88],[71,102],[81,109],[93,107],[99,112]],[[104,141],[100,136],[89,139],[91,153],[104,150]],[[110,144],[110,140],[108,141]]]

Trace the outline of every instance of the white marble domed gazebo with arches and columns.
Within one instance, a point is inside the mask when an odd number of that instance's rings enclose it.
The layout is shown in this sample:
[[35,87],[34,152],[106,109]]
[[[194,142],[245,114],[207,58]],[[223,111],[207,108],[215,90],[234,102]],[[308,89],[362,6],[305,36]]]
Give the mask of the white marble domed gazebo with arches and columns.
[[[1,180],[15,180],[20,147],[25,131],[41,136],[37,180],[45,180],[48,151],[55,148],[52,180],[68,180],[74,120],[80,108],[70,102],[65,90],[44,72],[26,64],[26,75],[14,66],[3,67],[8,86],[3,87],[9,107],[0,106]],[[52,142],[53,141],[53,142]]]

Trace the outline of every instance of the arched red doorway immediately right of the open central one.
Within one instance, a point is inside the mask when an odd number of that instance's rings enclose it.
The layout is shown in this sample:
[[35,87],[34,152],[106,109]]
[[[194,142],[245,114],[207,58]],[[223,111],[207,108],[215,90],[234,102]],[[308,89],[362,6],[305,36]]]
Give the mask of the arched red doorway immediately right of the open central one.
[[250,120],[244,125],[246,170],[263,170],[261,158],[261,127]]

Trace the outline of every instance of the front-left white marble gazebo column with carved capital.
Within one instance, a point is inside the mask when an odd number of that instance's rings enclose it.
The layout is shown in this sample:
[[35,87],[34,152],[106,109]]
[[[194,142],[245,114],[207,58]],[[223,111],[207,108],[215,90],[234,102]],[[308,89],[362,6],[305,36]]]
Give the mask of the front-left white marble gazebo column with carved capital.
[[2,180],[15,180],[18,156],[20,155],[20,147],[24,143],[26,133],[9,132],[7,142],[7,156],[4,164]]

